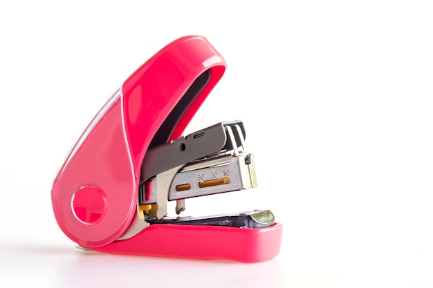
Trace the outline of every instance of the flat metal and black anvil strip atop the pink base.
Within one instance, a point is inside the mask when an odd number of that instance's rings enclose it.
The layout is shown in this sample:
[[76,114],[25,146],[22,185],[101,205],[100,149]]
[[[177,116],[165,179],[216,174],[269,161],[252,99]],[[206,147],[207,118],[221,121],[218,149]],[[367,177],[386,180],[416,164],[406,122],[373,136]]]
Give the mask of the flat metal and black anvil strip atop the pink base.
[[270,210],[255,210],[246,213],[214,215],[207,217],[149,218],[150,224],[182,224],[206,225],[238,228],[264,228],[275,223],[275,217]]

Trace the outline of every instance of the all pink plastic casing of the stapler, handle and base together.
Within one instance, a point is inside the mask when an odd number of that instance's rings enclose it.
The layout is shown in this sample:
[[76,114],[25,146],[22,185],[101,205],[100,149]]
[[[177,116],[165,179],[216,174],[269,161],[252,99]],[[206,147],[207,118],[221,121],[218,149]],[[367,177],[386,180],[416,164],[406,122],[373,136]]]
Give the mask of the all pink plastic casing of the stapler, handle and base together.
[[241,262],[277,255],[281,224],[264,229],[154,224],[115,241],[137,213],[140,167],[151,140],[207,70],[209,81],[172,127],[169,140],[176,139],[225,70],[223,57],[204,37],[183,37],[165,46],[102,106],[53,181],[53,211],[68,238],[107,253]]

